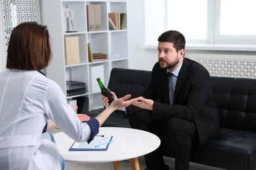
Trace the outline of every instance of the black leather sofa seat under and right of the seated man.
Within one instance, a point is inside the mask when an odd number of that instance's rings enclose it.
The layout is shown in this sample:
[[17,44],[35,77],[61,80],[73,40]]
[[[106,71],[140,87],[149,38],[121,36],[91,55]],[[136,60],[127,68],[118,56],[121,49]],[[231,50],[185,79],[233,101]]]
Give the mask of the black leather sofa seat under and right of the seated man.
[[[161,136],[165,156],[174,157],[166,137]],[[203,144],[193,154],[191,161],[223,169],[256,169],[256,133],[221,127],[221,135]],[[248,167],[248,166],[251,167]]]

